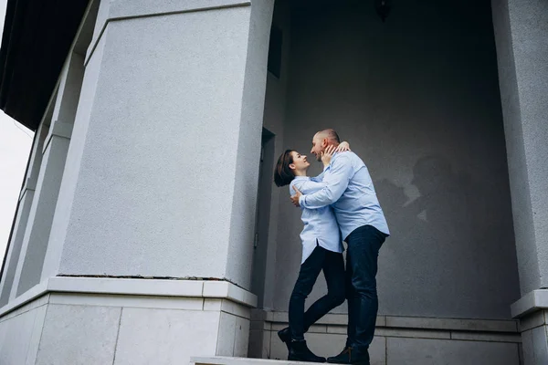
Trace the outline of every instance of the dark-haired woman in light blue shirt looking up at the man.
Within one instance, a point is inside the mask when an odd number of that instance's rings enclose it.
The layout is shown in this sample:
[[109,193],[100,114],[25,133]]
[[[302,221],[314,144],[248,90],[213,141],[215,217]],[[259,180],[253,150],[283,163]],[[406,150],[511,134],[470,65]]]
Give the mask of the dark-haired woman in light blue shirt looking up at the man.
[[[322,154],[321,162],[327,167],[335,151],[348,151],[347,142],[342,142],[338,148],[331,146]],[[310,178],[306,172],[311,164],[306,156],[297,151],[287,150],[279,156],[274,172],[274,183],[277,186],[290,184],[290,194],[295,194],[293,187],[301,193],[309,194],[321,190],[325,186],[321,175]],[[290,297],[290,327],[278,332],[279,339],[285,342],[289,350],[288,360],[325,362],[324,358],[314,355],[307,347],[304,333],[318,319],[332,308],[344,302],[344,261],[342,259],[342,240],[329,206],[321,209],[301,209],[301,220],[304,228],[300,233],[302,240],[302,258],[299,277]],[[304,312],[304,301],[311,293],[316,278],[323,270],[327,282],[327,294],[318,299]]]

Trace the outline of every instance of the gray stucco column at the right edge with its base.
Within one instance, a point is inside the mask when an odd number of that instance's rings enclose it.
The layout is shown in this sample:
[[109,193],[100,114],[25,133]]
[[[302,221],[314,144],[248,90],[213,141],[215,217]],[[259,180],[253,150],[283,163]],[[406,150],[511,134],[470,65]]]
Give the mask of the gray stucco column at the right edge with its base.
[[[527,321],[548,304],[548,3],[491,4],[522,291],[512,314]],[[522,326],[525,363],[545,363],[546,328],[533,328]]]

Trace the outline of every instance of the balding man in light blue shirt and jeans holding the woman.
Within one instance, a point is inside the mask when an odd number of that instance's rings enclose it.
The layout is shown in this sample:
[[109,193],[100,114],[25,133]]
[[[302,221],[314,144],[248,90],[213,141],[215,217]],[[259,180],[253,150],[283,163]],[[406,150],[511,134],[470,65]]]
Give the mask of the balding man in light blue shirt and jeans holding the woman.
[[[338,146],[335,130],[321,130],[312,139],[316,160],[328,146]],[[374,337],[378,310],[376,292],[377,258],[381,245],[390,235],[385,214],[374,192],[371,176],[364,162],[353,152],[335,153],[324,169],[326,186],[316,193],[303,195],[295,189],[291,201],[296,206],[318,209],[332,205],[348,245],[345,287],[348,300],[348,337],[342,352],[328,362],[369,364],[369,345]]]

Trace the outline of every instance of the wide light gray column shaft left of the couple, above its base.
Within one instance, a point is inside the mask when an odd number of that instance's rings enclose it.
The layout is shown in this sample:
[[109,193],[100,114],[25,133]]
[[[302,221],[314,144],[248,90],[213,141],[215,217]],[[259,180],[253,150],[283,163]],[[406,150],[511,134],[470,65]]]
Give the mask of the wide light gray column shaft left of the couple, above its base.
[[101,2],[43,276],[249,288],[273,3]]

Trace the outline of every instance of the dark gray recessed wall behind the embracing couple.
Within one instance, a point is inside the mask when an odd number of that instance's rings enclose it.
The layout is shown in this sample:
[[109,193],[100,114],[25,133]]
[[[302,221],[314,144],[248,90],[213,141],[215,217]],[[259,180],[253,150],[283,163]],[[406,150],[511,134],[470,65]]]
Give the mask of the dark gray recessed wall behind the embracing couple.
[[[490,5],[449,3],[394,2],[385,23],[370,2],[296,6],[284,145],[308,154],[332,127],[368,165],[392,231],[380,314],[510,318],[519,283]],[[283,191],[277,310],[301,228]],[[321,277],[309,304],[324,291]]]

